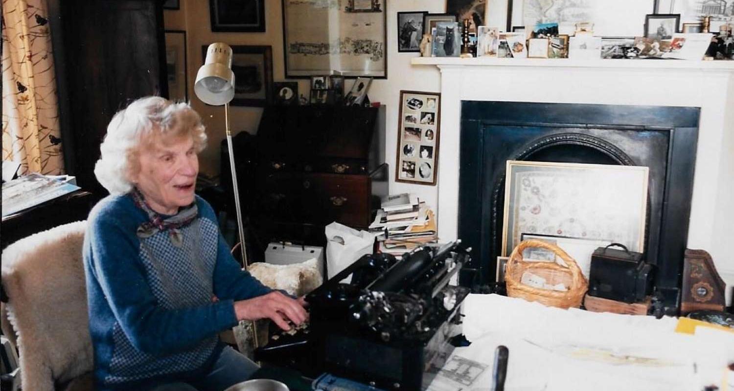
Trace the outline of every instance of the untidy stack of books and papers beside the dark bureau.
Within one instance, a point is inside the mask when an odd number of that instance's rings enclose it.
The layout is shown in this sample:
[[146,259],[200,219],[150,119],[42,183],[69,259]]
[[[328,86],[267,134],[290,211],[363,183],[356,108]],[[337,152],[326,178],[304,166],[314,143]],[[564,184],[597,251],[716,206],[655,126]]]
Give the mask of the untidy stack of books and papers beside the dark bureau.
[[436,243],[433,211],[413,194],[396,194],[382,200],[370,230],[377,233],[379,251],[400,257],[417,246]]

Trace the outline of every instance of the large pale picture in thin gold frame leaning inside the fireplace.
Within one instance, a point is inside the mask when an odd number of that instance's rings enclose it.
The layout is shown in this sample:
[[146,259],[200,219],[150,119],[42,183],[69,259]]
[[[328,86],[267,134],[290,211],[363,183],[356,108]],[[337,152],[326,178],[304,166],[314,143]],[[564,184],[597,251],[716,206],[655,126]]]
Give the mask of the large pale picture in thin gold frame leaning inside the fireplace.
[[648,173],[648,167],[507,161],[502,256],[523,234],[610,241],[643,252]]

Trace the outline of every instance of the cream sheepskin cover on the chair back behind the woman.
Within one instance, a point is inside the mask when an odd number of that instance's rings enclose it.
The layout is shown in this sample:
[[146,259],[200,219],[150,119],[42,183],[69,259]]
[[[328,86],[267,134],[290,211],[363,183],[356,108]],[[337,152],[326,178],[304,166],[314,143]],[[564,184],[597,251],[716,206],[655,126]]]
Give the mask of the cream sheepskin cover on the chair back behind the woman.
[[81,260],[86,227],[60,225],[2,252],[7,321],[17,335],[23,390],[53,391],[54,381],[66,383],[93,369]]

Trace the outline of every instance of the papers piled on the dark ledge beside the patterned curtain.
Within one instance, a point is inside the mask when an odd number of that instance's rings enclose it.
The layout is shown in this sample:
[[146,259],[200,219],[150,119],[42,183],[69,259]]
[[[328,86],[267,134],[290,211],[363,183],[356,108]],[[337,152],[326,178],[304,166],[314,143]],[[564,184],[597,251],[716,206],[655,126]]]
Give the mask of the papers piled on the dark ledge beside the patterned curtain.
[[79,186],[37,172],[10,180],[2,184],[2,216],[10,216],[79,189]]

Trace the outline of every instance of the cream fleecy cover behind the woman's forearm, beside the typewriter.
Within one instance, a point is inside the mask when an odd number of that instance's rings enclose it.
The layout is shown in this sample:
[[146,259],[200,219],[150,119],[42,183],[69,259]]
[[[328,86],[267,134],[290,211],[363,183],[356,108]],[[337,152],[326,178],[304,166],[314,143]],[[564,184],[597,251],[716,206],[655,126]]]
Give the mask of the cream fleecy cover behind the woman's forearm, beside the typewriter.
[[[293,296],[303,296],[321,285],[324,277],[319,271],[316,258],[302,263],[291,265],[273,265],[271,263],[252,263],[247,271],[264,285],[273,289],[282,289]],[[269,320],[256,322],[258,331],[258,342],[264,344],[268,340]],[[241,321],[234,326],[233,333],[239,351],[253,357],[254,343],[252,341],[252,322]]]

